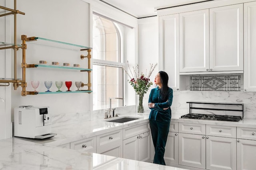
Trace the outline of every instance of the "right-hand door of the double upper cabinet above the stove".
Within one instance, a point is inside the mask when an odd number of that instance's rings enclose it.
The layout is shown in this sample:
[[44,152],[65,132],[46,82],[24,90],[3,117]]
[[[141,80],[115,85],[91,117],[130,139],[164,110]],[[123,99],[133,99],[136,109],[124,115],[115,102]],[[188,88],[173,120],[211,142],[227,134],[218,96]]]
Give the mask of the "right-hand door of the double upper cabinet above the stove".
[[243,70],[243,4],[210,9],[210,71]]

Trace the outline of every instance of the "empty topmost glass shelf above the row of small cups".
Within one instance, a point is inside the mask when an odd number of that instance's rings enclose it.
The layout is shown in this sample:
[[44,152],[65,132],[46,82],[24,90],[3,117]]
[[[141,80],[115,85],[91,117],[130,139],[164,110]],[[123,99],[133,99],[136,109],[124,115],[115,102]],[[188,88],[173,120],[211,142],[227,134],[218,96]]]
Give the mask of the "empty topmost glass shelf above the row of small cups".
[[86,47],[82,45],[76,45],[76,44],[71,44],[71,43],[65,43],[62,41],[56,41],[52,39],[46,39],[46,38],[41,38],[41,37],[35,37],[36,41],[28,41],[29,43],[36,43],[36,44],[41,44],[41,45],[48,45],[51,47],[58,47],[62,49],[70,49],[70,50],[85,50],[85,49],[92,49],[91,47]]

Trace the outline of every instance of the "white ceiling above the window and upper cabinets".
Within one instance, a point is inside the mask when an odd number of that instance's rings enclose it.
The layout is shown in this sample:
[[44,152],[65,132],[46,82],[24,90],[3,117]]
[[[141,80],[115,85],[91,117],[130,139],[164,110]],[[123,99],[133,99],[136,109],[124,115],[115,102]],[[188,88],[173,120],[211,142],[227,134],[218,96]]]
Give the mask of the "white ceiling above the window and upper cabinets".
[[210,0],[100,0],[136,18],[156,16],[156,10]]

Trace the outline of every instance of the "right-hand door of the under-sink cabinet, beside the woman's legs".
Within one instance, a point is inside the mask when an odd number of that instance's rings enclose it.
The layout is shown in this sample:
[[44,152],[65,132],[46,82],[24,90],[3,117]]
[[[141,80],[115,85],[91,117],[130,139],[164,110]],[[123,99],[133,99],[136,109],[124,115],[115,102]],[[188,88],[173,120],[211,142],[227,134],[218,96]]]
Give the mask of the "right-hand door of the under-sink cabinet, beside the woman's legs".
[[150,161],[150,131],[142,133],[138,138],[138,160],[148,162]]

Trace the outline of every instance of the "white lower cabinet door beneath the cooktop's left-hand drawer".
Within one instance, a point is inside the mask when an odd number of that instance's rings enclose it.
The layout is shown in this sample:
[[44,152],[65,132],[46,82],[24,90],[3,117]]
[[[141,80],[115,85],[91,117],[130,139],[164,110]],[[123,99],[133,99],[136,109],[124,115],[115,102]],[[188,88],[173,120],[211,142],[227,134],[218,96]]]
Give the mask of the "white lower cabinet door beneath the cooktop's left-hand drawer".
[[205,169],[206,143],[204,135],[179,133],[179,164]]

